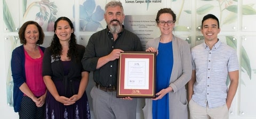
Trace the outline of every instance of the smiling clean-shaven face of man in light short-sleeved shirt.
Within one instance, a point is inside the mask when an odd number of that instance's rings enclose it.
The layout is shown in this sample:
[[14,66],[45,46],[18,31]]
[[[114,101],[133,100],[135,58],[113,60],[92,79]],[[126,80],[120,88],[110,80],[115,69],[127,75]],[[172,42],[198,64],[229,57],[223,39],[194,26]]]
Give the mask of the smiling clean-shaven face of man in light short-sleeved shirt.
[[202,24],[201,32],[204,36],[205,41],[218,41],[218,33],[220,33],[220,28],[218,26],[218,21],[212,18],[206,19]]

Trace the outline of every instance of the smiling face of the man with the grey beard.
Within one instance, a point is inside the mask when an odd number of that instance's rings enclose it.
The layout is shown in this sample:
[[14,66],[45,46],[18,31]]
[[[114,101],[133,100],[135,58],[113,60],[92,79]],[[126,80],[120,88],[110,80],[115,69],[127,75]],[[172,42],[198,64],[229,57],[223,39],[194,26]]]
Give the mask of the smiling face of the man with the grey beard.
[[121,32],[124,21],[124,13],[121,6],[107,7],[104,19],[106,20],[111,33]]

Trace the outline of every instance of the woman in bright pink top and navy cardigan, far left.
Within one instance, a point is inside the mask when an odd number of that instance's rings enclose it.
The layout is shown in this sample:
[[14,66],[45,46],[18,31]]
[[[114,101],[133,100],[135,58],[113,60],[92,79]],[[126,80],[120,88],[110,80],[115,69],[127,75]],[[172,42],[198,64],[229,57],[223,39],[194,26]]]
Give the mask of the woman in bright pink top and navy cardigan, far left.
[[23,23],[20,43],[12,52],[13,107],[19,118],[45,118],[46,86],[42,77],[44,32],[35,21]]

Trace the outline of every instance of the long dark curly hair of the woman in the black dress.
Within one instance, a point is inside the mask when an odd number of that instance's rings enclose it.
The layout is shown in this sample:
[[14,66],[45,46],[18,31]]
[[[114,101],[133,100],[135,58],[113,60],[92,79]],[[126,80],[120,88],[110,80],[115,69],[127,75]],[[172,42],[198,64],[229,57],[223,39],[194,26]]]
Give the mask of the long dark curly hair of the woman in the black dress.
[[[73,23],[71,22],[70,19],[68,19],[65,16],[62,16],[62,17],[58,18],[55,21],[55,23],[54,23],[54,31],[56,31],[57,23],[60,20],[67,21],[68,24],[70,25],[70,28],[73,29],[73,31],[75,31]],[[62,55],[62,52],[61,52],[62,51],[62,46],[60,44],[60,40],[59,40],[58,36],[55,33],[53,35],[52,43],[51,43],[50,47],[51,47],[51,52],[52,52],[53,58],[57,59],[57,57]],[[71,59],[72,56],[75,56],[75,58],[76,58],[77,55],[78,54],[77,54],[77,48],[76,48],[76,36],[75,36],[75,34],[73,32],[73,33],[71,33],[70,40],[69,40],[69,49],[68,49],[67,57],[69,57]]]

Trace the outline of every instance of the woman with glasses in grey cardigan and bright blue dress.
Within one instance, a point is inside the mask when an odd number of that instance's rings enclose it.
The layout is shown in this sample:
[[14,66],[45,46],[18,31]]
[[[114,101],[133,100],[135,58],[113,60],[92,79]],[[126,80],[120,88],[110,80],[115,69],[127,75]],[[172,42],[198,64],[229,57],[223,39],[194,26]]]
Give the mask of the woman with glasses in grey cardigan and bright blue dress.
[[187,41],[173,36],[176,15],[162,8],[156,16],[161,36],[148,41],[147,52],[156,56],[156,98],[146,99],[145,118],[188,118],[186,83],[191,78],[191,54]]

